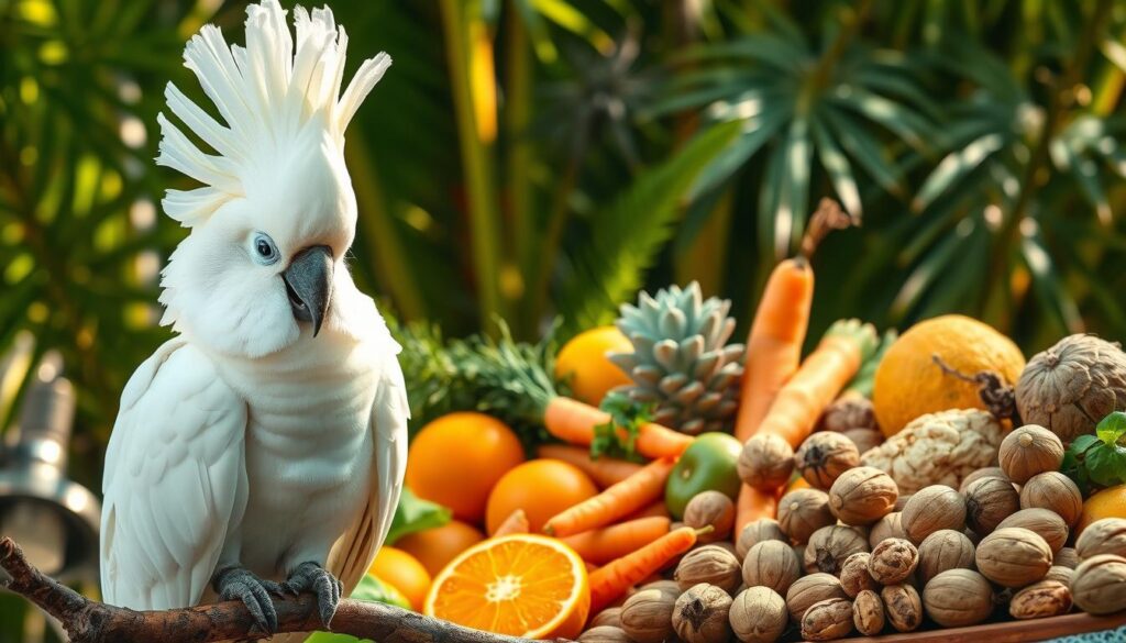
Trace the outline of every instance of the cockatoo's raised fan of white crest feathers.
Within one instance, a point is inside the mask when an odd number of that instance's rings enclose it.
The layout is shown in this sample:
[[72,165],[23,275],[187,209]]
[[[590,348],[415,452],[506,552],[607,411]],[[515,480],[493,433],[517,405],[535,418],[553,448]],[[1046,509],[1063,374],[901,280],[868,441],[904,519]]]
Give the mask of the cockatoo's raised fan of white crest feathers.
[[195,226],[229,200],[247,195],[247,182],[280,155],[304,153],[298,140],[306,128],[343,150],[343,133],[356,109],[391,65],[381,53],[364,61],[347,89],[340,91],[348,36],[328,7],[294,9],[296,48],[277,0],[247,7],[247,46],[227,45],[217,27],[206,25],[184,50],[185,66],[195,72],[204,92],[226,122],[224,126],[171,82],[168,107],[188,130],[217,154],[204,152],[163,114],[157,162],[205,184],[191,190],[168,190],[164,212]]

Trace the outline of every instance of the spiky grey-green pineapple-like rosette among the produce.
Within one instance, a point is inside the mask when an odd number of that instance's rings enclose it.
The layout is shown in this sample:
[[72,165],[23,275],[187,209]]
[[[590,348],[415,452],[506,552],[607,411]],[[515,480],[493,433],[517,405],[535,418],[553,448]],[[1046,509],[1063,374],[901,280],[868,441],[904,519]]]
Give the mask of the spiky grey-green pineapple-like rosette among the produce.
[[617,327],[633,352],[610,360],[633,383],[616,392],[655,403],[653,421],[683,434],[730,431],[743,377],[743,345],[726,343],[735,330],[730,310],[729,300],[704,301],[696,282],[623,304]]

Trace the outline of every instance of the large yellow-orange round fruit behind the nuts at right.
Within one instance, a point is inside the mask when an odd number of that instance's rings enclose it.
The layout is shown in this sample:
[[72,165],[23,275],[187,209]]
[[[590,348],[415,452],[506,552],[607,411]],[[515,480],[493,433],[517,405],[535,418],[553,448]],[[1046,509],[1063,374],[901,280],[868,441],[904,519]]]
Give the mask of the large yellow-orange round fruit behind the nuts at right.
[[873,404],[884,435],[897,434],[926,413],[985,408],[978,385],[944,373],[935,356],[971,377],[995,373],[1010,386],[1025,368],[1017,345],[988,324],[964,315],[921,321],[887,349],[876,369]]

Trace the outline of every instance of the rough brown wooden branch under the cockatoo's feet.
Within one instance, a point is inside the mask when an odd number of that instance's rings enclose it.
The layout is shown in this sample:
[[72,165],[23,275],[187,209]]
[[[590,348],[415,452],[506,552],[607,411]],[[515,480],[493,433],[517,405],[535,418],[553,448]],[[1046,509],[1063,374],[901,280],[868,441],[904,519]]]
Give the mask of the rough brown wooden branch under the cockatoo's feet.
[[[207,643],[267,635],[257,629],[250,613],[239,601],[135,611],[90,600],[35,569],[11,538],[0,539],[0,568],[11,575],[7,589],[57,618],[71,643]],[[324,629],[312,593],[276,598],[274,606],[278,633]],[[351,599],[340,601],[331,631],[379,643],[531,643],[528,638],[470,629],[382,602]]]

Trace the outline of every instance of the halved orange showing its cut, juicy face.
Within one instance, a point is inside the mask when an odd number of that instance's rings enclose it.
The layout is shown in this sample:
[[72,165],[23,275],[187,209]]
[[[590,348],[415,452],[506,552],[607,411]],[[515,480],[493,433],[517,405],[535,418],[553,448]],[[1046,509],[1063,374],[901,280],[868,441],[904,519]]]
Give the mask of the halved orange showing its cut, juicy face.
[[423,613],[509,636],[574,638],[590,613],[587,566],[554,538],[491,538],[438,574]]

